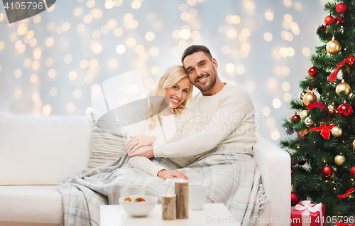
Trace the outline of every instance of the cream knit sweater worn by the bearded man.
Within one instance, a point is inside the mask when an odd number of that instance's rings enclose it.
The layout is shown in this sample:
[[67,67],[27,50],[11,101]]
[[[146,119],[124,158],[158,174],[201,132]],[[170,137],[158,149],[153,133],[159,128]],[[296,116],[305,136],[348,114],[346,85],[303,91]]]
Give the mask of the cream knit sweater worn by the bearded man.
[[226,83],[215,95],[203,96],[200,92],[189,107],[196,114],[198,132],[173,143],[154,146],[155,157],[197,156],[222,146],[252,149],[256,141],[255,109],[243,88]]

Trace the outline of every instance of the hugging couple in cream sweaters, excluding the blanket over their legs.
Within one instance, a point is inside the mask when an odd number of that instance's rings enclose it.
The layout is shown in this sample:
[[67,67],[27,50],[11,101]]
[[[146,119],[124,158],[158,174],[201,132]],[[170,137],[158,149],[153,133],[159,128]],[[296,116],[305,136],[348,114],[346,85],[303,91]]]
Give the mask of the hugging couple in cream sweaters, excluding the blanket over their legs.
[[[188,180],[188,177],[178,169],[168,171],[148,158],[169,158],[179,168],[184,168],[217,148],[247,153],[256,141],[251,98],[241,87],[219,79],[218,63],[209,49],[204,45],[191,45],[182,54],[181,62],[183,67],[167,68],[150,93],[169,101],[161,104],[160,109],[155,107],[160,120],[154,116],[128,129],[129,165],[163,179]],[[192,98],[193,86],[201,92]],[[187,102],[190,102],[189,108]],[[169,107],[162,107],[167,104]],[[169,138],[165,138],[169,144],[164,144],[163,135]]]

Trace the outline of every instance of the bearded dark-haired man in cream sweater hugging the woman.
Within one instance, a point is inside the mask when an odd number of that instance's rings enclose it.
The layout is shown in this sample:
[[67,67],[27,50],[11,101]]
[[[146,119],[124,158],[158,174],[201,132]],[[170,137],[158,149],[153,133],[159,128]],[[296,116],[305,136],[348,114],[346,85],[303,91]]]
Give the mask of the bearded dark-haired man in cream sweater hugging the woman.
[[189,105],[196,114],[199,131],[159,146],[136,144],[127,150],[129,158],[201,156],[219,147],[249,153],[256,141],[255,109],[249,94],[241,87],[219,79],[217,60],[204,45],[188,47],[181,62],[192,84],[201,91]]

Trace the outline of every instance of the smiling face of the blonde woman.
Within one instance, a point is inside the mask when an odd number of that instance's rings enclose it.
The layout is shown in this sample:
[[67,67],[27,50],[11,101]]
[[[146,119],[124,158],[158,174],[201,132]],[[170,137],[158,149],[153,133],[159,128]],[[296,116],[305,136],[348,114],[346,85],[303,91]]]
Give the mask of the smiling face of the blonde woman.
[[187,77],[185,77],[173,85],[173,87],[167,88],[165,97],[170,99],[170,107],[176,108],[184,102],[190,87],[191,82]]

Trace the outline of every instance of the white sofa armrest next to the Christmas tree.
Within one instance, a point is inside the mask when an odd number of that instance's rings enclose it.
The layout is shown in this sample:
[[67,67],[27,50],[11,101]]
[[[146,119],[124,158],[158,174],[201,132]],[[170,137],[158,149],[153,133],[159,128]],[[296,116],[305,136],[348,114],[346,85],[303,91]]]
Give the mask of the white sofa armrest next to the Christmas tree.
[[[260,134],[253,146],[256,166],[261,171],[262,183],[268,196],[270,225],[290,225],[291,211],[291,168],[290,155],[266,141]],[[275,220],[275,219],[278,220]],[[278,221],[278,222],[276,222]]]

